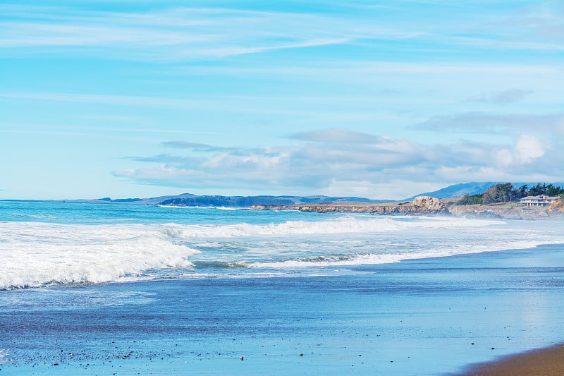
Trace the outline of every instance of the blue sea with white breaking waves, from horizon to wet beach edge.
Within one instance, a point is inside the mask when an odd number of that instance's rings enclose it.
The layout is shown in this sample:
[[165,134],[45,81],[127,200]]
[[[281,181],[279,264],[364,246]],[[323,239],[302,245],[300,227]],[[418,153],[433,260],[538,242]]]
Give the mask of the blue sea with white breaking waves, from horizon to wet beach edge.
[[0,202],[0,290],[205,277],[304,277],[564,243],[562,222]]

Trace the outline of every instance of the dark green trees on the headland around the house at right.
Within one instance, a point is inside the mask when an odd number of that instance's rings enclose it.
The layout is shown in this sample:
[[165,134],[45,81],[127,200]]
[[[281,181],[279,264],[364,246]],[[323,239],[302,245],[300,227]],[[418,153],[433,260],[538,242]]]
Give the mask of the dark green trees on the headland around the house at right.
[[489,187],[484,193],[465,195],[456,201],[455,205],[488,205],[500,202],[514,202],[520,198],[538,195],[564,197],[564,188],[554,186],[552,183],[537,183],[536,186],[530,188],[527,184],[514,188],[512,183],[499,183]]

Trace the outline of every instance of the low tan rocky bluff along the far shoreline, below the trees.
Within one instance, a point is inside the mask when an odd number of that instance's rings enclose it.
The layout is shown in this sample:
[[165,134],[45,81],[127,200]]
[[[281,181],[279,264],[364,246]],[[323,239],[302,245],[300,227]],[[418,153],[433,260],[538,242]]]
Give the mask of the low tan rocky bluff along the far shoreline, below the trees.
[[252,205],[253,210],[299,210],[300,212],[349,212],[363,214],[453,215],[499,219],[549,219],[564,217],[564,200],[556,200],[549,207],[504,205],[453,205],[455,199],[419,196],[410,202],[326,202],[300,205]]

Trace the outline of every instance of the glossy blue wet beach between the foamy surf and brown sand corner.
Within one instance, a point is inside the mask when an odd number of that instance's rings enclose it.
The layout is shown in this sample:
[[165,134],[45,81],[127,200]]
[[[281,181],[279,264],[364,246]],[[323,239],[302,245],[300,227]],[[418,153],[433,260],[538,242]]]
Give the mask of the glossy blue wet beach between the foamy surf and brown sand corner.
[[562,250],[3,291],[0,375],[460,375],[562,341]]

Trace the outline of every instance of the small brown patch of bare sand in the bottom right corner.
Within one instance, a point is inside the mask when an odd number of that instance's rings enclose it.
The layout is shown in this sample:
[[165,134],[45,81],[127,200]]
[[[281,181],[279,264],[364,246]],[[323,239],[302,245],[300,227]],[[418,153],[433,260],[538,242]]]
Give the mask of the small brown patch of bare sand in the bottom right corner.
[[564,344],[475,365],[460,376],[562,376]]

